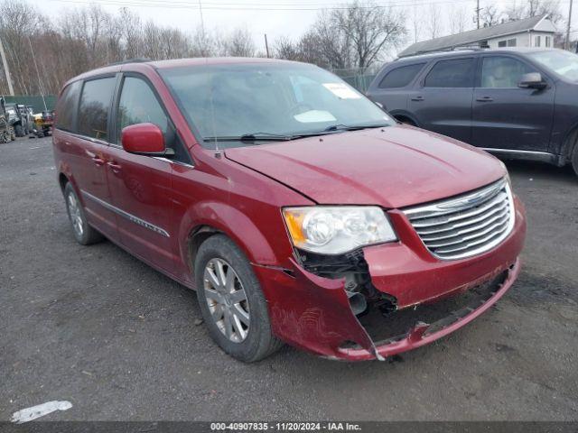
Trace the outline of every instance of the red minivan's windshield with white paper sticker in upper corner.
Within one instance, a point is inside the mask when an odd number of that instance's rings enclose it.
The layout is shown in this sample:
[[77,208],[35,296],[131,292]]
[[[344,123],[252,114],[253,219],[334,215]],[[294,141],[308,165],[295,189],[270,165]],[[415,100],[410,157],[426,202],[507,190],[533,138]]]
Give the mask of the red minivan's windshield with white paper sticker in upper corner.
[[160,73],[191,127],[206,141],[332,134],[347,127],[394,124],[357,90],[311,65],[227,64]]

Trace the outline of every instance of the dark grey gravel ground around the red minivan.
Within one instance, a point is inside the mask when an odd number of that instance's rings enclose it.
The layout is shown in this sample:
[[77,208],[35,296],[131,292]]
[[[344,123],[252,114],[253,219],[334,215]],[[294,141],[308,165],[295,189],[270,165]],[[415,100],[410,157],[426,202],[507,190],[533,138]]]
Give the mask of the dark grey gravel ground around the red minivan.
[[527,206],[523,272],[470,326],[393,362],[285,347],[241,364],[193,292],[105,242],[74,241],[51,139],[0,145],[0,420],[578,419],[578,178],[510,162]]

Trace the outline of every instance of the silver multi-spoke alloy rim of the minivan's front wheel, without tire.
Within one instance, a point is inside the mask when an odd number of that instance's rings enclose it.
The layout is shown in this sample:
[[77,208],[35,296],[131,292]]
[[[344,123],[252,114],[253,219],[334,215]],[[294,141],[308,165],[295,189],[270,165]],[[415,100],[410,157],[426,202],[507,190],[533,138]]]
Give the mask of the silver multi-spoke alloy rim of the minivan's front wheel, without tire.
[[222,259],[207,263],[203,290],[210,317],[220,332],[234,343],[247,338],[250,314],[247,293],[233,267]]

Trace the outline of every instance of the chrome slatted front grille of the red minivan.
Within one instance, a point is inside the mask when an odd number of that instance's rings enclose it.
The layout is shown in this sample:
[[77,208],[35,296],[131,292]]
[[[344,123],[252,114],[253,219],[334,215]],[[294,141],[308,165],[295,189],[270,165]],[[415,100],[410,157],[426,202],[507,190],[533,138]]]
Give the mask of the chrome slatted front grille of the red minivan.
[[514,227],[514,203],[506,180],[404,212],[430,253],[443,260],[489,251]]

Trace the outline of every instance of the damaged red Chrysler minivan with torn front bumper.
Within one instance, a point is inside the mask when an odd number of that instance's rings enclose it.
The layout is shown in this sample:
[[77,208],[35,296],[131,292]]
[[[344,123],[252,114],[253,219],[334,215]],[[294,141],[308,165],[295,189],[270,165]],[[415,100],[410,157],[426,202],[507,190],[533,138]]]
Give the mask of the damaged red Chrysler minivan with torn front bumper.
[[106,237],[196,290],[242,361],[283,343],[383,360],[480,316],[520,269],[504,164],[312,65],[93,70],[64,86],[53,146],[79,243]]

